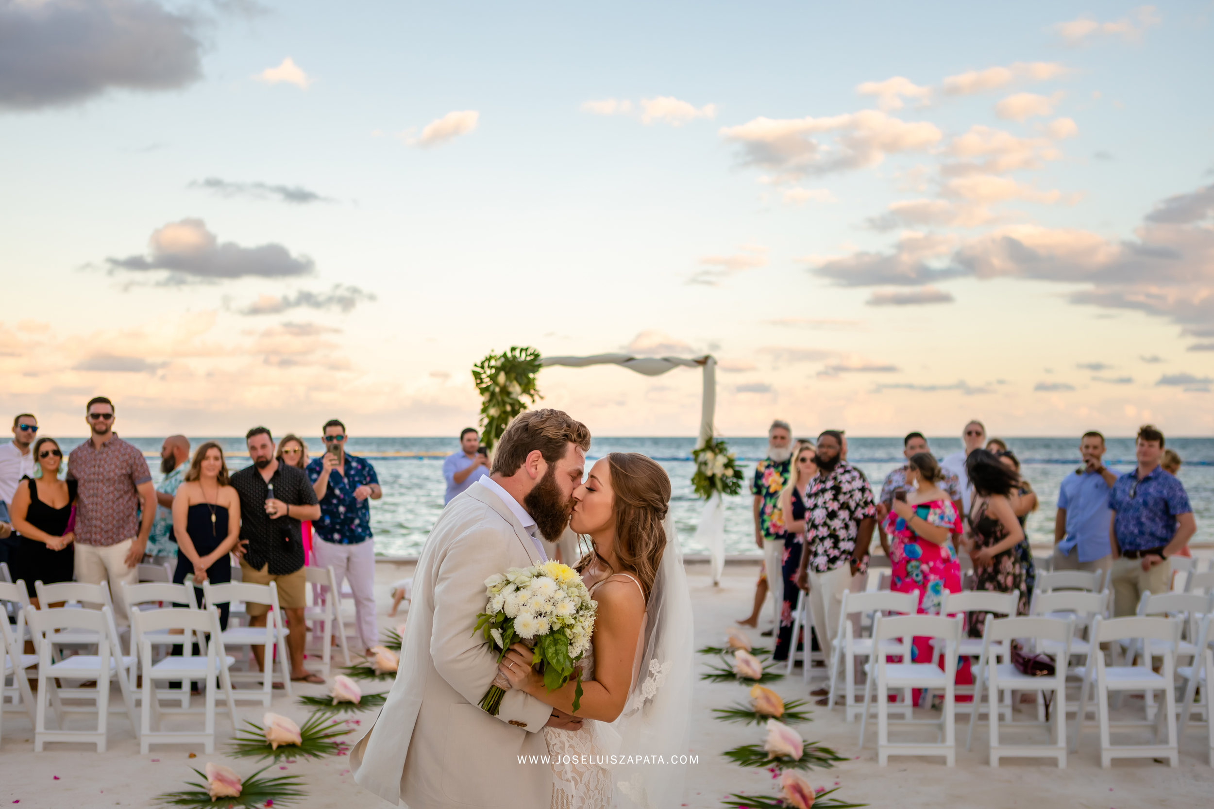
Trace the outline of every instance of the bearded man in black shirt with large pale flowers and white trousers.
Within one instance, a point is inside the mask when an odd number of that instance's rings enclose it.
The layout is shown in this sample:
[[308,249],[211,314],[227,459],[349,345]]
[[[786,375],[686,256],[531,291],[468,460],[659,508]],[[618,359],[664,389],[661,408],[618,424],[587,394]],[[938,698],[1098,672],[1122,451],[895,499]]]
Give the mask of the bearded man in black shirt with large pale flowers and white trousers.
[[813,629],[827,660],[839,627],[843,592],[862,592],[868,580],[868,545],[877,525],[873,490],[841,452],[841,433],[828,429],[818,435],[818,474],[805,498],[805,551],[798,575],[802,588],[809,585]]

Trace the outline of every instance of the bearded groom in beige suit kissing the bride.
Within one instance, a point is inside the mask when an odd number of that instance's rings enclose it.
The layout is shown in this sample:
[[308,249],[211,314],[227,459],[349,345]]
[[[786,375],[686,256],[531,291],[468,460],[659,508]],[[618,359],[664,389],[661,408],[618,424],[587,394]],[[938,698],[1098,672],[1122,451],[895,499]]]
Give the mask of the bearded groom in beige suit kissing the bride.
[[480,707],[498,673],[480,632],[484,580],[543,562],[582,484],[590,431],[560,410],[518,415],[493,454],[493,472],[452,500],[413,576],[401,667],[384,710],[351,751],[354,780],[410,809],[537,809],[551,801],[545,725],[580,719],[507,690],[497,717]]

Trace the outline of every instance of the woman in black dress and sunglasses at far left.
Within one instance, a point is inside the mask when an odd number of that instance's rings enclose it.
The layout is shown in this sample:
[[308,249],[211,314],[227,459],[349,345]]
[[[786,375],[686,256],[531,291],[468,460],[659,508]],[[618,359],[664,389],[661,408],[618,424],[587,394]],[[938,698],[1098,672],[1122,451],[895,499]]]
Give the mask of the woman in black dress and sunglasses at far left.
[[59,480],[63,450],[53,438],[39,438],[33,455],[34,477],[22,478],[12,497],[12,526],[21,534],[12,572],[25,580],[29,603],[41,606],[34,582],[72,581],[75,571],[72,517],[76,482]]

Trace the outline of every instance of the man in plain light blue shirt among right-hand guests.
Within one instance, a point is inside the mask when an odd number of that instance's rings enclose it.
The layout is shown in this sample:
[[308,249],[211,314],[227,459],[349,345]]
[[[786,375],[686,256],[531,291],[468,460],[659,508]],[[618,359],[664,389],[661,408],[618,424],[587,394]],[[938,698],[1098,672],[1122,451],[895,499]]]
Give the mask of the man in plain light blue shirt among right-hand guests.
[[1108,492],[1117,473],[1105,468],[1105,437],[1091,431],[1079,440],[1083,466],[1062,479],[1054,519],[1054,570],[1102,570],[1113,566],[1108,543]]

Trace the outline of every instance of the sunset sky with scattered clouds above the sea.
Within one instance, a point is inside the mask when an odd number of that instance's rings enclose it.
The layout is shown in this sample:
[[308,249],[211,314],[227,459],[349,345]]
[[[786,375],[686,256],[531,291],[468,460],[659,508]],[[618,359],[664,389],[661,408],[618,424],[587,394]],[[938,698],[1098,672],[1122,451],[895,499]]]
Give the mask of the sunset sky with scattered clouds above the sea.
[[1212,435],[1212,15],[0,0],[0,414]]

